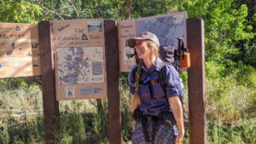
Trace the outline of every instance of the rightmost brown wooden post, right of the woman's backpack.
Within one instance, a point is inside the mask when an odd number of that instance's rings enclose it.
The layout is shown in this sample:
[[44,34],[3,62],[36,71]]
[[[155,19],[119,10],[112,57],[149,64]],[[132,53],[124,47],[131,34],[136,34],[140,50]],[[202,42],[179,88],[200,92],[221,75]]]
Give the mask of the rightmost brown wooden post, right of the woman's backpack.
[[207,143],[205,32],[204,21],[189,18],[187,45],[190,52],[189,72],[189,143]]

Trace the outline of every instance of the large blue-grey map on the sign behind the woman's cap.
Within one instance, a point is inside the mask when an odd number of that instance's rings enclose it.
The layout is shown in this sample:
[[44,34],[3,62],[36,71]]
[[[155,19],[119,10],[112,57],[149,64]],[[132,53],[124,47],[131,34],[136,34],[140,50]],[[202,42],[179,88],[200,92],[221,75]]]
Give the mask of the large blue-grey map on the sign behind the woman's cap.
[[175,46],[177,37],[184,38],[184,14],[137,20],[137,33],[153,32],[160,40],[160,46]]

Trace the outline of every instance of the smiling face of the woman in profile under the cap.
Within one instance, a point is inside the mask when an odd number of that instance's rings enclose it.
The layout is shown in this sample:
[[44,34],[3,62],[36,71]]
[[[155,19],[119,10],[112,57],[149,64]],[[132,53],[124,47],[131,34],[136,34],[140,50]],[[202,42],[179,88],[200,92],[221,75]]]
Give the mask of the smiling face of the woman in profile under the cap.
[[147,41],[137,40],[135,45],[135,50],[137,52],[139,59],[146,59],[150,56],[150,49],[148,48]]

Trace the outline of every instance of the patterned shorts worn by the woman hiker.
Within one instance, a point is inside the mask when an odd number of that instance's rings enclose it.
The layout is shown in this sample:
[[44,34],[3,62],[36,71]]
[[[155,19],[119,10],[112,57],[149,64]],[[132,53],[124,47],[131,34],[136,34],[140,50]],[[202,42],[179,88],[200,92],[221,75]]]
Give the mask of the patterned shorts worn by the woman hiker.
[[[178,135],[176,126],[172,128],[167,127],[165,124],[159,124],[156,128],[156,134],[154,137],[154,144],[174,144],[176,140],[176,136]],[[152,135],[152,122],[148,121],[148,135],[151,140]],[[133,144],[152,144],[151,142],[147,142],[145,140],[145,136],[143,133],[143,126],[141,123],[137,123],[135,126],[135,130],[132,136]]]

